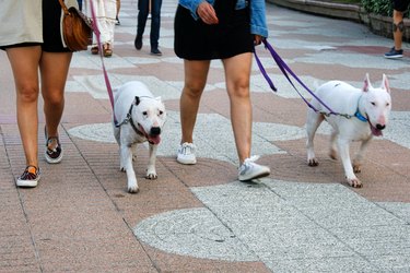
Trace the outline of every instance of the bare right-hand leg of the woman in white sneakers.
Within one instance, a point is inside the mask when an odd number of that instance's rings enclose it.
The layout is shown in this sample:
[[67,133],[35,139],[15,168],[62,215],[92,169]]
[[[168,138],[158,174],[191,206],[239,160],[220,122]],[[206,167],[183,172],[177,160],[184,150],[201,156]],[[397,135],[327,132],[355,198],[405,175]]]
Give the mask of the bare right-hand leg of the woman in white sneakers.
[[242,54],[222,60],[225,69],[226,90],[231,102],[231,121],[239,163],[250,156],[251,104],[249,76],[251,54]]

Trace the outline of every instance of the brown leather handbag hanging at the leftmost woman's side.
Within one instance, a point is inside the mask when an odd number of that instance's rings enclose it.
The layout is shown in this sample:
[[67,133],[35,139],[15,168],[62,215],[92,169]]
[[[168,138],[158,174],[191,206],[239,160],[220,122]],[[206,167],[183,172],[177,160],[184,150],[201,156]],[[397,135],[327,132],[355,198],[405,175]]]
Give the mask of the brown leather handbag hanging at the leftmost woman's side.
[[67,8],[63,0],[59,0],[63,11],[62,37],[71,51],[86,50],[93,41],[93,22],[74,7]]

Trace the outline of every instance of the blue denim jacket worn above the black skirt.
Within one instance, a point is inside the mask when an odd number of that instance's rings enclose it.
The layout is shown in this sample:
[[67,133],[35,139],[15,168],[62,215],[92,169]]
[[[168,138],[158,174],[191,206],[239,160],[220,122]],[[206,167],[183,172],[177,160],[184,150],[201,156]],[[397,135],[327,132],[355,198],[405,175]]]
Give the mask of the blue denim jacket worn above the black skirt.
[[[179,0],[179,4],[190,10],[195,20],[198,20],[198,5],[207,1],[214,4],[215,0]],[[236,10],[245,9],[248,4],[247,0],[236,0]],[[268,26],[266,23],[266,7],[265,0],[250,0],[250,33],[262,37],[268,37]]]

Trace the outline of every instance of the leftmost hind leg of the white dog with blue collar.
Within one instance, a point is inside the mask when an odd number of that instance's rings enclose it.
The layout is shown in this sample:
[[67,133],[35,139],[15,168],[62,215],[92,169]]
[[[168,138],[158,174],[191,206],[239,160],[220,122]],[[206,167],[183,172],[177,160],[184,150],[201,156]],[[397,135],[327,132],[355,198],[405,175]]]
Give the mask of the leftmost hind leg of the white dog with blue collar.
[[317,131],[317,128],[319,128],[324,119],[325,118],[323,115],[315,112],[313,109],[308,109],[307,121],[306,121],[306,133],[307,133],[306,149],[307,149],[307,165],[309,166],[319,165],[319,162],[315,157],[314,139],[315,139],[315,133]]

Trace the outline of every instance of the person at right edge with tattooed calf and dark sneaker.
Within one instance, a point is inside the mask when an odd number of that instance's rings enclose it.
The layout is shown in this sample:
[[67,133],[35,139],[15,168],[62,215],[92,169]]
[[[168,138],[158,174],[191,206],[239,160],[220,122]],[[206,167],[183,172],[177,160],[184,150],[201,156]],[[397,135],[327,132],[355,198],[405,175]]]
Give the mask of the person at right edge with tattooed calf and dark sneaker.
[[405,32],[403,15],[409,9],[410,0],[393,0],[393,38],[395,45],[385,54],[387,59],[402,58],[402,34]]

